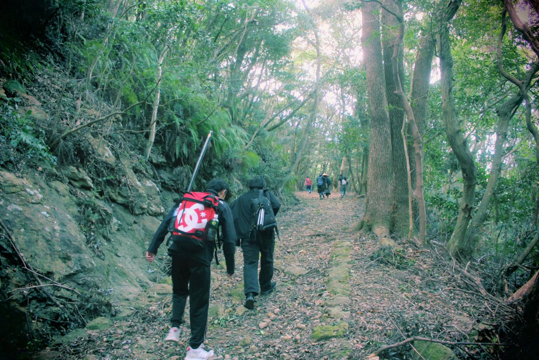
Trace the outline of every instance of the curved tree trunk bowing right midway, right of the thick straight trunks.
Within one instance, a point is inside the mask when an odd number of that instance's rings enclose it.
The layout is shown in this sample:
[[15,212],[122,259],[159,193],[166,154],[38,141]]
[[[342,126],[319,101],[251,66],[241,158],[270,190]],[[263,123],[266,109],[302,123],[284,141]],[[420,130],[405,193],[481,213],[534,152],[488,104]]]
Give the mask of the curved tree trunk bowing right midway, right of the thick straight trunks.
[[[474,249],[466,243],[465,234],[468,223],[472,219],[472,209],[475,194],[477,167],[472,153],[469,151],[466,139],[462,134],[459,119],[455,112],[453,97],[453,56],[451,55],[451,40],[448,22],[453,18],[462,0],[449,0],[444,15],[439,16],[440,29],[437,35],[440,54],[441,97],[444,127],[447,139],[462,171],[462,198],[460,199],[457,223],[448,242],[451,254],[459,260],[467,260],[472,256]],[[454,11],[453,11],[454,10]],[[451,16],[451,17],[450,17]]]

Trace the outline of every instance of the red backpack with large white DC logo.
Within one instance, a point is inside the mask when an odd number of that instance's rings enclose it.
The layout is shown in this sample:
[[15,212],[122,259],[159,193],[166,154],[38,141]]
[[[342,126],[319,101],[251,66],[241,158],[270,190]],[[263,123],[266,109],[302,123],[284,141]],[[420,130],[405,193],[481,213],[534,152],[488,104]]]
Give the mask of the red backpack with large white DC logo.
[[214,218],[218,205],[219,198],[212,193],[185,193],[170,221],[169,231],[172,235],[208,240],[208,222]]

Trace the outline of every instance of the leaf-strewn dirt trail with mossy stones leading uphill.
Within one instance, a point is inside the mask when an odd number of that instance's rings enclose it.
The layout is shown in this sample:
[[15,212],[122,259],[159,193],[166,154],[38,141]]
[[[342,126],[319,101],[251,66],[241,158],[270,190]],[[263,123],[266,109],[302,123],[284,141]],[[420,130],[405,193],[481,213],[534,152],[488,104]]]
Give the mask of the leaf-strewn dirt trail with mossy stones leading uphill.
[[[419,277],[372,262],[378,241],[351,230],[361,219],[363,199],[341,199],[338,191],[324,200],[315,193],[296,195],[299,205],[278,215],[277,289],[258,296],[253,310],[243,307],[240,250],[233,280],[222,265],[212,264],[206,348],[223,359],[360,359],[410,331],[424,334],[417,324],[438,324],[438,310],[430,311],[432,302],[414,287]],[[169,284],[156,284],[133,309],[123,308],[112,328],[87,330],[52,352],[70,359],[183,359],[188,326],[179,344],[162,342],[170,291]]]

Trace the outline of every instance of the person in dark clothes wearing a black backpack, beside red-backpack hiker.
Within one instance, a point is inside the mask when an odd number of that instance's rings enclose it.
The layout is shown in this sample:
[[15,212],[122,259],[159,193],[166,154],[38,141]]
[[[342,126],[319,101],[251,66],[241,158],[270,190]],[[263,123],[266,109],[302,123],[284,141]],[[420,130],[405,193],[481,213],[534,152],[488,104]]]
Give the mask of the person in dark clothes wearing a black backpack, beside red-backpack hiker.
[[[273,251],[275,249],[274,227],[266,230],[257,229],[257,218],[253,212],[253,205],[257,201],[264,201],[269,214],[277,215],[281,203],[271,192],[266,191],[265,181],[257,176],[248,182],[250,191],[241,195],[230,205],[236,225],[236,234],[243,252],[243,281],[244,306],[247,309],[254,307],[254,297],[259,294],[267,295],[275,289],[277,282],[273,278]],[[260,199],[262,196],[262,199]],[[274,224],[277,226],[277,223]],[[260,274],[258,274],[258,257],[260,254]],[[258,276],[257,276],[258,275]],[[258,280],[257,280],[258,277]]]

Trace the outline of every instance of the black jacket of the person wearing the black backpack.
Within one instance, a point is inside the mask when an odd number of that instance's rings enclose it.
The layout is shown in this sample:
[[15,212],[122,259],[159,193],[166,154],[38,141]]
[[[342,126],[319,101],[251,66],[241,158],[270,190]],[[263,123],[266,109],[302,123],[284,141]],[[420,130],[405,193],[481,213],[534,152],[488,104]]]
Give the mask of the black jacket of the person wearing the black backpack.
[[[254,229],[254,215],[251,213],[251,198],[258,196],[260,188],[255,187],[247,193],[241,195],[238,199],[234,200],[230,208],[232,209],[232,217],[234,219],[234,226],[236,227],[236,235],[238,239],[247,239],[250,237],[251,232]],[[273,208],[273,214],[277,215],[281,208],[279,199],[271,192],[266,192],[271,207]],[[273,230],[272,230],[273,231]]]

